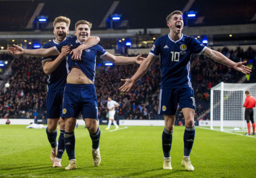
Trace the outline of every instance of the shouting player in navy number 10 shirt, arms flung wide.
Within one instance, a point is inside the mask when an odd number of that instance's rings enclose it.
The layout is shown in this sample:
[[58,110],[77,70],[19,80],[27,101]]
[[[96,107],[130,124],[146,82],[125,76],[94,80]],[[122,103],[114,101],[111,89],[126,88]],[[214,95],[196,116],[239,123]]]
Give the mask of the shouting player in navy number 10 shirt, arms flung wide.
[[244,74],[249,74],[251,68],[244,66],[246,62],[235,63],[221,53],[204,46],[198,40],[181,33],[184,25],[182,15],[181,11],[174,11],[166,17],[170,33],[155,41],[147,59],[143,61],[132,78],[121,79],[125,81],[125,84],[120,87],[120,90],[128,91],[149,70],[156,57],[160,56],[162,78],[158,113],[163,114],[165,121],[162,134],[163,168],[172,169],[170,151],[175,112],[177,103],[179,103],[185,118],[184,156],[181,165],[186,170],[193,171],[194,167],[189,159],[195,137],[195,99],[190,76],[191,54],[197,53],[208,56]]

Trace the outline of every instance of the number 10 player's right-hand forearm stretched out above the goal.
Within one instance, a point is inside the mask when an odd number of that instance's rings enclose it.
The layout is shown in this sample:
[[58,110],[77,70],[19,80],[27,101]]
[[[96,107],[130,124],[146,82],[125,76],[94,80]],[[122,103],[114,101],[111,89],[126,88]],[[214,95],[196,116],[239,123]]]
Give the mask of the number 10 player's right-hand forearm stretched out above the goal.
[[213,60],[215,60],[216,62],[224,64],[228,67],[232,67],[232,68],[236,69],[237,71],[242,72],[244,74],[250,74],[252,72],[252,69],[250,67],[244,66],[244,64],[246,64],[246,61],[236,63],[236,62],[230,60],[229,58],[227,58],[226,56],[222,55],[220,52],[212,50],[208,47],[204,50],[202,55],[210,57]]

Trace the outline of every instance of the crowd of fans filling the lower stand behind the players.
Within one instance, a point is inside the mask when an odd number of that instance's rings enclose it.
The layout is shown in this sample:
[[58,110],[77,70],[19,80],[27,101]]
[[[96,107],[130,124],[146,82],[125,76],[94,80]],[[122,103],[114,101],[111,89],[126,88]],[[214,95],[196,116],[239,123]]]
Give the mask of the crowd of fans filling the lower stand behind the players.
[[[256,51],[249,47],[229,50],[219,49],[223,55],[235,62],[248,60],[255,66]],[[145,55],[144,57],[146,57]],[[36,57],[20,56],[13,59],[10,87],[0,90],[0,117],[2,118],[34,118],[46,116],[47,76],[44,75],[41,60]],[[98,116],[107,120],[107,97],[112,97],[120,106],[117,108],[117,119],[163,119],[158,115],[160,91],[160,62],[155,60],[150,70],[135,83],[127,93],[120,92],[124,84],[121,78],[130,78],[139,65],[124,65],[112,67],[96,67],[95,88],[98,97]],[[191,56],[191,76],[196,99],[195,119],[209,109],[210,88],[221,81],[235,83],[243,74],[221,65],[206,56]],[[209,119],[209,115],[204,116]],[[175,124],[183,125],[184,117],[178,108]]]

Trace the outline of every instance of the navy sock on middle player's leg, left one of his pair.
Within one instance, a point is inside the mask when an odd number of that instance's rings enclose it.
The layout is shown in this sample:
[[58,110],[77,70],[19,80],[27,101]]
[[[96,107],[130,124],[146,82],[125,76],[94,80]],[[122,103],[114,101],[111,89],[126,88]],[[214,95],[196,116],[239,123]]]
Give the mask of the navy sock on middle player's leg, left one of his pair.
[[69,160],[75,159],[75,132],[65,132],[64,142]]

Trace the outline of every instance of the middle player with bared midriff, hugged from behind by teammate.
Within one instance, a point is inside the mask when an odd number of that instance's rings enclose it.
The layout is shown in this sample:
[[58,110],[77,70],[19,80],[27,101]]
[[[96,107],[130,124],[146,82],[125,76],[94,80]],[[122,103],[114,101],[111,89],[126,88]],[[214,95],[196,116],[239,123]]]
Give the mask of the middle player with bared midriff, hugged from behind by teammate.
[[[78,21],[75,24],[75,35],[77,39],[70,38],[56,45],[55,48],[59,53],[65,45],[70,46],[71,49],[77,48],[88,40],[91,34],[91,28],[91,22],[84,20]],[[119,65],[140,64],[144,60],[141,55],[137,57],[111,55],[100,45],[94,45],[82,51],[81,60],[79,61],[73,61],[69,56],[68,66],[70,73],[67,77],[67,85],[64,90],[62,110],[62,118],[65,118],[64,141],[70,160],[69,166],[65,168],[67,170],[76,168],[74,129],[76,118],[80,111],[93,142],[93,166],[99,166],[101,162],[99,148],[101,131],[97,125],[98,101],[94,86],[96,56]]]

